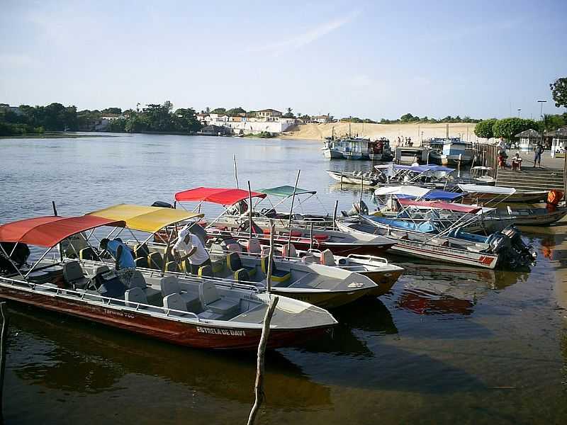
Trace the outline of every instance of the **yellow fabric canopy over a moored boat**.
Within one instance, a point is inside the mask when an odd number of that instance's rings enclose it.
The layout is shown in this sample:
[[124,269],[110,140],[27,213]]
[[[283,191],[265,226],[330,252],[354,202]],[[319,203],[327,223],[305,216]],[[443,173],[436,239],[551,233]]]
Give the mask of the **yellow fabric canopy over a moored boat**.
[[132,204],[118,204],[113,207],[104,208],[103,210],[89,212],[86,215],[96,215],[96,217],[103,217],[109,220],[125,221],[126,227],[130,229],[150,233],[155,233],[159,229],[176,222],[204,216],[204,214],[196,214],[196,212],[186,210],[145,207]]

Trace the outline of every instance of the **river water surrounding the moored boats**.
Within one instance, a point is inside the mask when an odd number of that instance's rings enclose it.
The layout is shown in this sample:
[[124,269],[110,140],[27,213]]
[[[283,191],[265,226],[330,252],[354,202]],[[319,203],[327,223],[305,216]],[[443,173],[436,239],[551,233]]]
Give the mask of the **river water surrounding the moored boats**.
[[[305,212],[348,209],[320,143],[118,135],[0,140],[0,222],[115,203],[172,201],[196,186],[299,186]],[[363,192],[371,204],[368,191]],[[301,210],[301,209],[300,209]],[[213,214],[218,208],[206,207]],[[531,229],[538,231],[538,229]],[[264,424],[567,424],[566,311],[558,307],[559,232],[525,233],[531,272],[479,271],[388,256],[406,271],[379,299],[334,312],[331,337],[266,357]],[[169,346],[11,305],[7,424],[242,424],[254,353]]]

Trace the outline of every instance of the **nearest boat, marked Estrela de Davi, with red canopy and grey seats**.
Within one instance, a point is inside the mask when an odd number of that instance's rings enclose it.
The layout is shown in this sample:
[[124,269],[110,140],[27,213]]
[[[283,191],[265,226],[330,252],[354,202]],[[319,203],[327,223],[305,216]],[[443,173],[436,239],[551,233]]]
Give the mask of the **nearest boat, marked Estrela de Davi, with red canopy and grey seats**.
[[[178,211],[174,220],[180,220],[181,213]],[[145,217],[140,215],[138,220],[152,221],[156,214],[163,212],[146,210]],[[0,296],[182,346],[257,347],[264,314],[273,297],[257,288],[216,285],[204,278],[180,281],[157,271],[137,272],[130,288],[124,288],[103,261],[45,260],[67,237],[102,226],[124,227],[125,222],[85,215],[35,217],[1,225],[1,252],[13,267],[0,276]],[[20,245],[47,250],[32,266],[26,266],[27,259],[18,266],[11,261],[6,244],[12,244],[12,250]],[[174,290],[164,295],[166,288]],[[280,297],[268,346],[298,344],[324,334],[336,323],[320,307]]]

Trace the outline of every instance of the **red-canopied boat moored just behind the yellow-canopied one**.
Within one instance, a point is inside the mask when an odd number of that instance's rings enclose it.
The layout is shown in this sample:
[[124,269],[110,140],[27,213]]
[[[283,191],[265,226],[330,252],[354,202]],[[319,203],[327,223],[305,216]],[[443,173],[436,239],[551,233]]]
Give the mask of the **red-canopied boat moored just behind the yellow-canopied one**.
[[[175,194],[175,200],[181,202],[209,202],[223,205],[225,209],[215,220],[203,223],[207,237],[228,236],[235,239],[257,238],[261,244],[270,242],[270,230],[267,226],[260,226],[253,222],[252,217],[242,220],[240,224],[223,221],[223,215],[232,208],[232,205],[240,203],[247,198],[265,198],[265,193],[243,191],[235,188],[193,188]],[[383,237],[372,237],[371,235],[354,236],[349,233],[339,232],[332,229],[318,229],[313,234],[310,229],[303,227],[279,227],[274,230],[274,243],[291,243],[297,249],[330,249],[333,254],[380,254],[393,244],[391,240]]]

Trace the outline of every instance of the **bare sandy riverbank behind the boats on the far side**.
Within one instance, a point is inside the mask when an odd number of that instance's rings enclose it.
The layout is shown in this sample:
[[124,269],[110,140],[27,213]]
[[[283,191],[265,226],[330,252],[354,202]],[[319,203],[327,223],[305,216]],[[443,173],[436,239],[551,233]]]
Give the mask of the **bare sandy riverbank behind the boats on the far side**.
[[[475,123],[449,123],[449,137],[461,136],[463,140],[476,142],[474,134]],[[329,124],[301,124],[294,125],[286,132],[282,132],[279,137],[282,139],[301,139],[301,140],[322,140],[325,137],[347,135],[349,133],[349,123],[329,123]],[[398,137],[411,137],[414,146],[419,145],[420,140],[430,139],[431,137],[445,137],[447,135],[447,124],[351,124],[350,132],[359,137],[370,137],[378,139],[386,137],[391,142]]]

